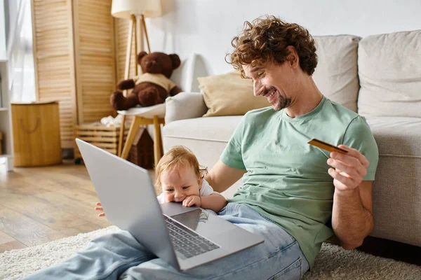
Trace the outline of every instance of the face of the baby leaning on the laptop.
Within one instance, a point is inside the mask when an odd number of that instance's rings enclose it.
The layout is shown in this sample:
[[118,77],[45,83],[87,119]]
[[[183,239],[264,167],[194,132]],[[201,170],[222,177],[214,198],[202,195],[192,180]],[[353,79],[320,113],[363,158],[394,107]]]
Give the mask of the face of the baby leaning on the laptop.
[[162,172],[161,184],[165,202],[182,202],[190,195],[199,196],[201,189],[201,179],[189,165]]

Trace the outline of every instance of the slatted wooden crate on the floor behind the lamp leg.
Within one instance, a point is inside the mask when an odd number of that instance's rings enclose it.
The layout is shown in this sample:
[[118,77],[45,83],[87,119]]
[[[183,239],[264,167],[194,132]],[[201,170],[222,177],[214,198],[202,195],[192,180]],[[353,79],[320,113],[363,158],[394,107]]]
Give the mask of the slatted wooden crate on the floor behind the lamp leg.
[[[128,129],[129,127],[126,126],[126,129],[124,130],[124,140],[126,140]],[[76,138],[116,155],[119,148],[120,127],[106,127],[101,123],[76,125],[75,136]],[[77,163],[80,162],[81,158],[81,153],[75,144],[74,160]]]

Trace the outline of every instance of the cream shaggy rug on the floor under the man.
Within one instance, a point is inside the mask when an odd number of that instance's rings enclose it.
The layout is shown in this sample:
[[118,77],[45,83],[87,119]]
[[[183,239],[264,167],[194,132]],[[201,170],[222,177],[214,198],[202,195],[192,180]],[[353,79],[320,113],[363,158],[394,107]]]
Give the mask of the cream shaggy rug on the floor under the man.
[[[88,241],[118,228],[111,226],[55,241],[7,251],[0,254],[0,279],[19,279],[38,269],[49,267],[81,251]],[[339,246],[323,244],[312,272],[305,280],[421,280],[421,267],[379,258],[359,251],[345,251]]]

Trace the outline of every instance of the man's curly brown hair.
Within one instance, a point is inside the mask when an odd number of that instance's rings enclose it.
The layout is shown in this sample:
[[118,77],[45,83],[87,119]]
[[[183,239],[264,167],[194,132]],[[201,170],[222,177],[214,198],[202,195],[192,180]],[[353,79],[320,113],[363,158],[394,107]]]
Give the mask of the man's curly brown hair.
[[225,60],[241,71],[243,78],[242,65],[255,67],[267,62],[286,62],[288,45],[297,51],[302,71],[311,76],[317,66],[316,46],[309,31],[295,23],[283,22],[274,15],[244,22],[243,33],[234,37],[231,44],[234,51]]

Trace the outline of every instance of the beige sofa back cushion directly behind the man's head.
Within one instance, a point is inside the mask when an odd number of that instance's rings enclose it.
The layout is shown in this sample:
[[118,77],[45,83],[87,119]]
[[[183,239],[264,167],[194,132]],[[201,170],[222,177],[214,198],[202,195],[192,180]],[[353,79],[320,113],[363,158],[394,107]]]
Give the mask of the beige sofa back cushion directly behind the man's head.
[[359,91],[357,49],[359,37],[314,36],[319,57],[314,83],[330,100],[356,112]]

